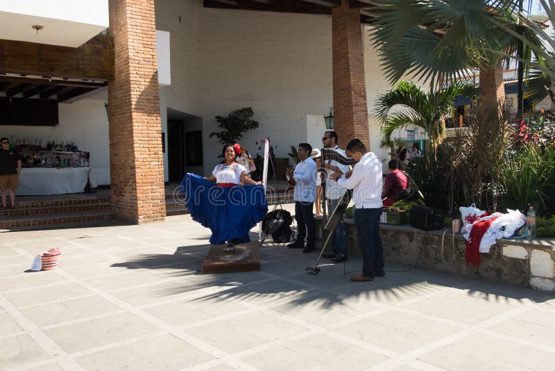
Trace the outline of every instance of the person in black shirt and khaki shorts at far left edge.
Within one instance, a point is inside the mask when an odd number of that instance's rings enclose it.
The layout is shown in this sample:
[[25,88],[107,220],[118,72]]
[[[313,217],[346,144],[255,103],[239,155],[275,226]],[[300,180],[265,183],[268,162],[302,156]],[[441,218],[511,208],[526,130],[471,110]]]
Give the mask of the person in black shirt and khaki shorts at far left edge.
[[15,190],[22,172],[22,160],[17,149],[10,149],[8,138],[0,139],[0,190],[2,192],[2,208],[6,208],[6,193],[10,193],[10,208],[15,208]]

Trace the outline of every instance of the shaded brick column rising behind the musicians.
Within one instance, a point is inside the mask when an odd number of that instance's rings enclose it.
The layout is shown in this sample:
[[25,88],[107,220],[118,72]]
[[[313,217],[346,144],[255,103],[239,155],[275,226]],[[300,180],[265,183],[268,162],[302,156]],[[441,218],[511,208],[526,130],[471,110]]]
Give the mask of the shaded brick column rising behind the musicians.
[[370,149],[360,13],[348,1],[332,9],[334,130],[339,147],[359,138]]

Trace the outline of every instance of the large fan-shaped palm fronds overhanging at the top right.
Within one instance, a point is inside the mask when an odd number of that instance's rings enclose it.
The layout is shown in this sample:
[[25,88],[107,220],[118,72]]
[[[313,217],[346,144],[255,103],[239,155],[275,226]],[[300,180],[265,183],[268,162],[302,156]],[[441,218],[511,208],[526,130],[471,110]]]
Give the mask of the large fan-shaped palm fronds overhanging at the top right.
[[[372,41],[382,56],[386,78],[414,76],[436,83],[464,79],[479,69],[482,99],[491,99],[501,79],[486,79],[518,46],[518,1],[387,0],[373,8]],[[511,32],[508,32],[511,30]],[[531,32],[522,59],[530,60],[539,40]],[[529,65],[527,65],[529,66]],[[491,99],[497,101],[497,99]]]

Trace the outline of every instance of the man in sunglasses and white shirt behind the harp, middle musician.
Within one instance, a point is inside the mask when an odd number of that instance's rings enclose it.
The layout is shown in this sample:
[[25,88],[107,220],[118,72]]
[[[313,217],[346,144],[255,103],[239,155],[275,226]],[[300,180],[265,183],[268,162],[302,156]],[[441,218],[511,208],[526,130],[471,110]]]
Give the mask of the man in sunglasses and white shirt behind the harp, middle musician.
[[[326,131],[322,136],[322,145],[324,148],[332,148],[339,152],[341,156],[345,156],[345,151],[339,148],[337,145],[337,133],[335,131]],[[346,157],[346,156],[345,156]],[[323,158],[324,159],[324,158]],[[325,160],[325,159],[324,159]],[[327,200],[327,213],[332,215],[337,204],[341,200],[341,197],[346,192],[345,188],[340,187],[334,181],[334,174],[339,174],[340,176],[349,171],[348,165],[342,165],[336,160],[325,160],[323,166],[327,172],[327,180],[324,184],[325,195]],[[332,246],[333,252],[325,252],[322,254],[323,258],[333,258],[336,263],[347,260],[347,235],[345,233],[345,224],[343,223],[343,218],[339,220],[339,224],[332,236]]]

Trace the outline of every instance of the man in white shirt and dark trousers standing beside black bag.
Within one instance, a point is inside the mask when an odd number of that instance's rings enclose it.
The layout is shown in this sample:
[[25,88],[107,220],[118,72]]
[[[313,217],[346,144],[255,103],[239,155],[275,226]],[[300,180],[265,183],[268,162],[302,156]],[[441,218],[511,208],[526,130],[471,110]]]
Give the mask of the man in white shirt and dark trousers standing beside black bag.
[[[314,214],[312,208],[316,199],[316,163],[310,157],[312,147],[300,143],[297,153],[300,163],[295,170],[287,170],[287,175],[295,183],[293,200],[295,200],[295,219],[297,220],[297,240],[287,245],[291,249],[303,249],[302,252],[314,251]],[[305,246],[305,236],[307,245]]]

